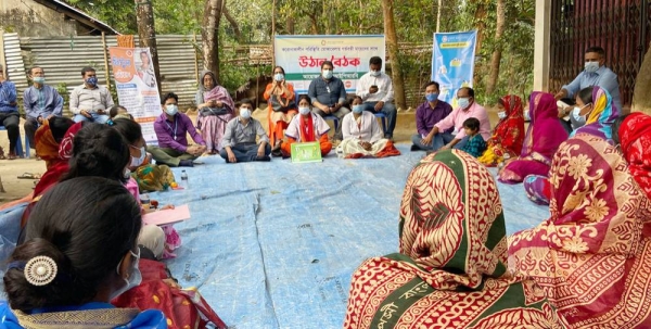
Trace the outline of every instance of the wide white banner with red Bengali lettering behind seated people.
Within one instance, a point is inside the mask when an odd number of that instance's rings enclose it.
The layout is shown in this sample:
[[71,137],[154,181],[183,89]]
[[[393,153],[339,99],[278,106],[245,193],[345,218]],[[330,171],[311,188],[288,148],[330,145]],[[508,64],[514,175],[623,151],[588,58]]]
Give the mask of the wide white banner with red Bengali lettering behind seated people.
[[[346,91],[355,92],[357,80],[369,72],[372,56],[385,59],[384,36],[276,36],[276,65],[285,71],[285,80],[298,93],[307,93],[309,84],[321,74],[323,61],[334,64],[334,76]],[[384,71],[384,63],[382,71]]]

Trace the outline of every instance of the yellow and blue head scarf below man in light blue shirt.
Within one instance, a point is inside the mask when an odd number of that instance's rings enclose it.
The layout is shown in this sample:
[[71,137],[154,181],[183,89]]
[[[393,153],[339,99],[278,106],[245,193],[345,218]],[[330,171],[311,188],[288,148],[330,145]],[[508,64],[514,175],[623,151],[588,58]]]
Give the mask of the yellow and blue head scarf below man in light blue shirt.
[[595,86],[592,89],[592,111],[583,127],[572,131],[576,134],[590,134],[603,139],[612,139],[611,126],[620,116],[620,110],[613,104],[613,98],[603,88]]

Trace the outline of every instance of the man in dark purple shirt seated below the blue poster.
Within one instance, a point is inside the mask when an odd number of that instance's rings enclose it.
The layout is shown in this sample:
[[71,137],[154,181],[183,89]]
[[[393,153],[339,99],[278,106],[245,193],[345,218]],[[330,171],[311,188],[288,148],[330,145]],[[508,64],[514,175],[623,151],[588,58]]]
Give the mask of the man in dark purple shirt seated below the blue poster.
[[439,86],[430,81],[425,86],[425,102],[416,109],[416,128],[418,134],[411,136],[411,151],[434,151],[452,140],[452,128],[434,134],[434,125],[452,113],[452,106],[438,100]]

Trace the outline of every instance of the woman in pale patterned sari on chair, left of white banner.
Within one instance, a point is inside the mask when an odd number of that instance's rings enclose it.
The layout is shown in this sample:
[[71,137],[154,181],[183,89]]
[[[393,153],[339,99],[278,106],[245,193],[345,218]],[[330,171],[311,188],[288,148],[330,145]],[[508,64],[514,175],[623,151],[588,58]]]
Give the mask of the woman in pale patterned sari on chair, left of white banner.
[[217,154],[221,150],[226,124],[235,117],[235,104],[228,90],[217,85],[215,74],[209,71],[202,72],[194,101],[199,110],[196,128],[206,142],[206,152]]

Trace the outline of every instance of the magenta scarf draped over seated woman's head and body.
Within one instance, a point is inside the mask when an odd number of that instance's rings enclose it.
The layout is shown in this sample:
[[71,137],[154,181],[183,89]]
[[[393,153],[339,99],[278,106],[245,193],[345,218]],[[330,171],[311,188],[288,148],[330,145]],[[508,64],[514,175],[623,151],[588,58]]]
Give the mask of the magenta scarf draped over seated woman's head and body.
[[531,123],[524,137],[521,157],[536,155],[551,162],[559,145],[567,139],[567,131],[558,118],[559,110],[551,93],[535,91],[529,98]]

